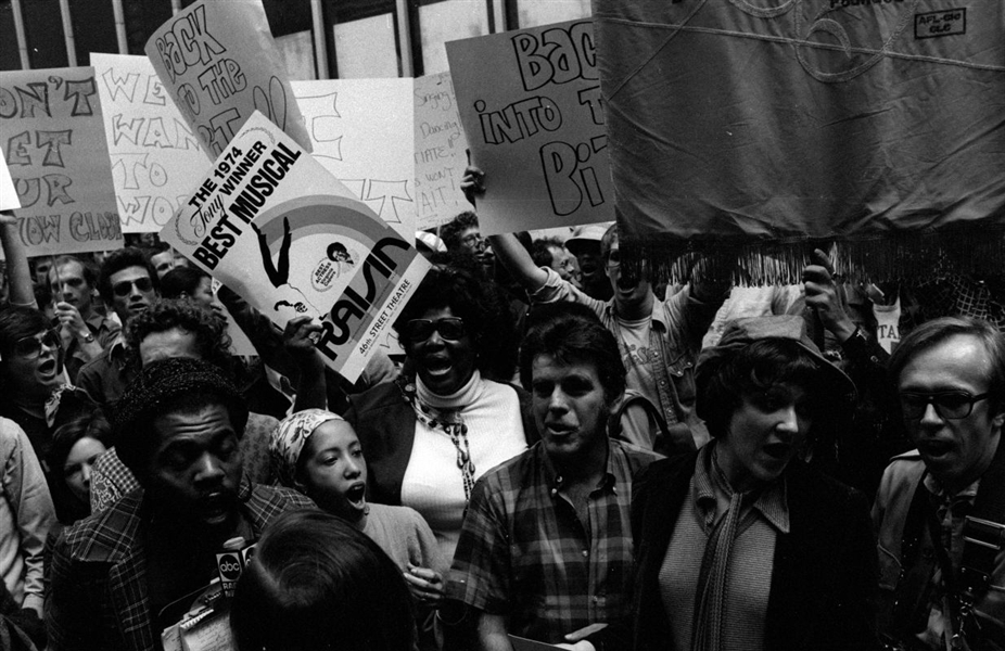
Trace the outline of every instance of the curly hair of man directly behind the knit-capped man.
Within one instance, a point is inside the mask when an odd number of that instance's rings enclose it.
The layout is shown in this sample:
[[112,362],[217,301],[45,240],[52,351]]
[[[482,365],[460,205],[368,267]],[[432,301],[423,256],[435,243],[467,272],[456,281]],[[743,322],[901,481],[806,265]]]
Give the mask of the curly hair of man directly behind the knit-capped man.
[[224,317],[191,301],[167,298],[154,302],[126,327],[126,346],[136,368],[142,366],[140,343],[151,334],[174,328],[195,335],[195,346],[203,360],[220,369],[231,368],[231,342]]

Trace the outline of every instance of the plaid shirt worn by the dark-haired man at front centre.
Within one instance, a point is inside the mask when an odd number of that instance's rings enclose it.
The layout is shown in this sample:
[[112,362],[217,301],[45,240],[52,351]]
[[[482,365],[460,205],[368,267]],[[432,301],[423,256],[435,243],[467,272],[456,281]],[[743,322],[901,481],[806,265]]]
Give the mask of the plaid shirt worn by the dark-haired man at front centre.
[[509,633],[545,642],[628,614],[629,507],[636,474],[658,455],[609,442],[584,523],[540,443],[486,473],[471,495],[447,596],[509,615]]

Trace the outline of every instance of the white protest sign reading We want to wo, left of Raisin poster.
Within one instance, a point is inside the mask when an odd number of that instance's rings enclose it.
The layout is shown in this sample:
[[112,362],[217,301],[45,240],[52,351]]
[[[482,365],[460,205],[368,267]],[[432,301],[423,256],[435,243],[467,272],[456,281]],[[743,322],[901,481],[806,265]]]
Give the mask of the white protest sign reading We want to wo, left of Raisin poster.
[[212,161],[147,56],[91,53],[123,232],[157,232]]

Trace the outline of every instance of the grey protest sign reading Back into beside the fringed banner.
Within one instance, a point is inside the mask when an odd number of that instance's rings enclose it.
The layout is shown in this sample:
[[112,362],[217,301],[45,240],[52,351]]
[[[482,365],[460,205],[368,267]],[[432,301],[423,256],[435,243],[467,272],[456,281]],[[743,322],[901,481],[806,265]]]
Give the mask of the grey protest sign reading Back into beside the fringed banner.
[[608,221],[614,191],[593,26],[573,21],[447,43],[482,234]]

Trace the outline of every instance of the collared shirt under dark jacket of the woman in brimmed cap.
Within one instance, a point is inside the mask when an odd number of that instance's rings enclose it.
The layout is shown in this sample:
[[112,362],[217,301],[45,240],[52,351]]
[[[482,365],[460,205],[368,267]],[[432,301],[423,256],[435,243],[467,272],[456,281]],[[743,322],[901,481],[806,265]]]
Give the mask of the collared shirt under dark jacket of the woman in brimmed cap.
[[[696,595],[709,537],[729,508],[733,488],[713,461],[715,442],[698,455],[691,476],[691,499],[685,500],[660,569],[660,595],[674,650],[691,648]],[[745,496],[740,522],[729,553],[723,629],[725,651],[764,648],[767,601],[772,589],[775,545],[788,534],[789,509],[783,478]]]

